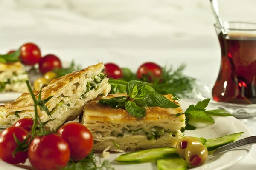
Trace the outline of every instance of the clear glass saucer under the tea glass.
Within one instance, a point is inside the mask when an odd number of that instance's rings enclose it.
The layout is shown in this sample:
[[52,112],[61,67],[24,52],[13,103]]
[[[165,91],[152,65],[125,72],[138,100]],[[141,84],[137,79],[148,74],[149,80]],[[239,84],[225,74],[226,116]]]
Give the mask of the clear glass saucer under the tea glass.
[[215,109],[223,109],[233,114],[238,119],[250,118],[256,116],[256,104],[234,104],[217,102],[212,99],[213,85],[200,84],[194,89],[195,98],[204,100],[211,99],[209,106]]

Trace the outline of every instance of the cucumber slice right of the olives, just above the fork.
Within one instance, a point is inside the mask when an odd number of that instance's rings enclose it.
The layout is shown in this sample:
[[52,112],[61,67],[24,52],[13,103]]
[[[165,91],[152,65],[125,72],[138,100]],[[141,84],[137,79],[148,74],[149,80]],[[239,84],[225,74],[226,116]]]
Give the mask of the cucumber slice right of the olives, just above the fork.
[[226,135],[226,136],[221,136],[221,137],[215,138],[215,139],[207,139],[204,146],[207,147],[208,151],[211,151],[218,147],[224,146],[225,144],[233,142],[239,136],[241,136],[241,134],[243,134],[243,133],[244,132],[239,132],[239,133],[233,133],[233,134]]

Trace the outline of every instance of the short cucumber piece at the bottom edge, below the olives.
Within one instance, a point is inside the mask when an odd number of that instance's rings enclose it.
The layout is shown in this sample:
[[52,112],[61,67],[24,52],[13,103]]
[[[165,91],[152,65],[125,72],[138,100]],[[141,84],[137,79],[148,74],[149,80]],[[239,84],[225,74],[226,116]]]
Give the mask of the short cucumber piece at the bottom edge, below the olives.
[[187,170],[189,164],[183,158],[157,159],[158,170]]

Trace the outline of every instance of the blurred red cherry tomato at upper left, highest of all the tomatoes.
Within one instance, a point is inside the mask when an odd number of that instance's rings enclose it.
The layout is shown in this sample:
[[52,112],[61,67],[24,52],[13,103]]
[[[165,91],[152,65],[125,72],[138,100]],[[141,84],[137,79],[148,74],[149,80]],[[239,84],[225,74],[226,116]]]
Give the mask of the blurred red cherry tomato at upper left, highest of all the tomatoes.
[[41,51],[37,45],[26,43],[20,47],[20,60],[25,65],[35,65],[41,59]]

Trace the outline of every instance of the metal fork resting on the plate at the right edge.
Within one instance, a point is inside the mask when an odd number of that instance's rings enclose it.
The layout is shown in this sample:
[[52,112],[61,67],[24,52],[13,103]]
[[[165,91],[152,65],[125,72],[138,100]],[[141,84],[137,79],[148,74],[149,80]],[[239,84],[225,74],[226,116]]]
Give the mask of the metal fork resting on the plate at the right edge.
[[236,147],[246,146],[246,145],[255,144],[255,143],[256,143],[256,136],[250,136],[213,150],[213,156],[226,152]]

